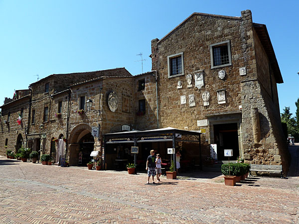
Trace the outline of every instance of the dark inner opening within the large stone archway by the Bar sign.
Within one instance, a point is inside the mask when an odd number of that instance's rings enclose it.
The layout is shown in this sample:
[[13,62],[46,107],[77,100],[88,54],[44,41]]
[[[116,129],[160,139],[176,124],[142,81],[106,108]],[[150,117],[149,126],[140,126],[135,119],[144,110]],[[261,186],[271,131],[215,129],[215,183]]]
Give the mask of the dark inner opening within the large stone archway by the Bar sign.
[[82,164],[80,166],[86,166],[86,164],[93,159],[90,157],[90,153],[94,150],[95,140],[92,134],[89,132],[79,140],[80,152],[82,152]]

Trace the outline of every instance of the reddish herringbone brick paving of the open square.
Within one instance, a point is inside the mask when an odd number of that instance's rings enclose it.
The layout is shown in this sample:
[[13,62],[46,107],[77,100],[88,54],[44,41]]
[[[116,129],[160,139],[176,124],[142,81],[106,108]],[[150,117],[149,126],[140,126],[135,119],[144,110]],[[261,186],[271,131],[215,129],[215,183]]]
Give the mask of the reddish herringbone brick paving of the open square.
[[0,224],[299,222],[299,177],[229,187],[221,176],[196,175],[147,185],[146,174],[0,157]]

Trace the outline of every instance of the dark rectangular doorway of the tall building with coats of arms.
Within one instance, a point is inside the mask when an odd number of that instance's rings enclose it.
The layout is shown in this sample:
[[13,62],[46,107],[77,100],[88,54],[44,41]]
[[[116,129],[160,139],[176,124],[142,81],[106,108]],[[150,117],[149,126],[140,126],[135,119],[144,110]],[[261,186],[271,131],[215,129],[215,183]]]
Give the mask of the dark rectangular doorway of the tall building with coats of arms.
[[214,124],[214,142],[217,144],[217,159],[228,160],[224,156],[224,149],[233,149],[230,160],[239,156],[239,138],[237,123]]

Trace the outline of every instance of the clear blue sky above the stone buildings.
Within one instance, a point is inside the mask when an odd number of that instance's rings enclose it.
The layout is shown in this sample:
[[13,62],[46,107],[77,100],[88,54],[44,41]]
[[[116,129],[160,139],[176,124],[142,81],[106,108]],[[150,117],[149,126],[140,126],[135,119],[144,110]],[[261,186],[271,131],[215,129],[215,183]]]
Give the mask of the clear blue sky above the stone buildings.
[[281,112],[299,98],[299,1],[0,0],[0,104],[51,74],[125,67],[151,70],[150,41],[193,12],[241,16],[267,25],[283,75]]

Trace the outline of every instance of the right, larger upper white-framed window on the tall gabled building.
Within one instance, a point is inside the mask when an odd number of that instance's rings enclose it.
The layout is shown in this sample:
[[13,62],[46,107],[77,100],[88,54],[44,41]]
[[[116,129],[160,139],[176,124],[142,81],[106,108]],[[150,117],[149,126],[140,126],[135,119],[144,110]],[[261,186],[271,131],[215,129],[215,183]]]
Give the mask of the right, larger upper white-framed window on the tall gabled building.
[[230,41],[210,45],[211,68],[232,65]]

